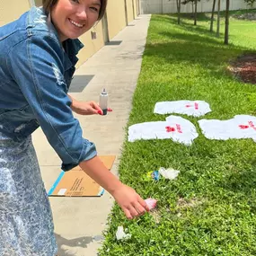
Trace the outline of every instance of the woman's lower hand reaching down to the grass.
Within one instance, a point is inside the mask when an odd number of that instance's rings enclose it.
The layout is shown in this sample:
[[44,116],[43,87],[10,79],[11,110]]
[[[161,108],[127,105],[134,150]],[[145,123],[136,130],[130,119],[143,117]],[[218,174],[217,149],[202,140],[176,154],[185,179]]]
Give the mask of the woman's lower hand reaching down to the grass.
[[146,211],[149,211],[144,199],[127,185],[122,184],[119,189],[114,190],[111,194],[129,219],[142,216]]

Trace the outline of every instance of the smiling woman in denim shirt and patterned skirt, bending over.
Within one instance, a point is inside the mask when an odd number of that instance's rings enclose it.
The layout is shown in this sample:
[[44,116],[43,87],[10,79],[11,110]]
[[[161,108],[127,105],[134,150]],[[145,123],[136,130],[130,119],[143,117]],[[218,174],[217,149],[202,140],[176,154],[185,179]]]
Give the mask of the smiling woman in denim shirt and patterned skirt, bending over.
[[56,255],[49,199],[31,143],[41,127],[68,171],[80,165],[119,203],[128,218],[148,208],[122,184],[82,137],[72,110],[102,113],[67,91],[75,72],[77,40],[102,19],[107,0],[44,0],[0,28],[0,255]]

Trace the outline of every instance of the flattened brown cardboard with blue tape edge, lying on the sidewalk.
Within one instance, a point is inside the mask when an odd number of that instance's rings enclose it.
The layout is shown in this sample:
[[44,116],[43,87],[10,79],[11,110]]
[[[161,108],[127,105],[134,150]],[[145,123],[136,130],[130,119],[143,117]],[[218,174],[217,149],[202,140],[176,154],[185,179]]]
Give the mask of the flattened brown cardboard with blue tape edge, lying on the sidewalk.
[[[115,161],[115,155],[99,155],[102,163],[110,170]],[[82,171],[82,172],[81,172]],[[104,190],[93,181],[79,166],[64,172],[49,190],[50,197],[101,197]]]

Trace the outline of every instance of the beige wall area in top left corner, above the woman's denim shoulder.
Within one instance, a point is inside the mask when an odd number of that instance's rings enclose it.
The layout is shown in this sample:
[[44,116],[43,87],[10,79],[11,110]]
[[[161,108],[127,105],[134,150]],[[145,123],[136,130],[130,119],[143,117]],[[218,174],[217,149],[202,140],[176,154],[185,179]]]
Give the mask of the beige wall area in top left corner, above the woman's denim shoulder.
[[30,8],[29,0],[0,0],[0,27],[18,19]]

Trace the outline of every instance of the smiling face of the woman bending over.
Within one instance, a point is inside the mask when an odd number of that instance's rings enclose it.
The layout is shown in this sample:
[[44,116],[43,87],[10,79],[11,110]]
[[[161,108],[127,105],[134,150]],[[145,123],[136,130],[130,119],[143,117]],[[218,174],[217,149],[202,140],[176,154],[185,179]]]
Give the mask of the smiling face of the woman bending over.
[[50,14],[60,40],[77,39],[89,31],[100,9],[101,0],[58,0]]

